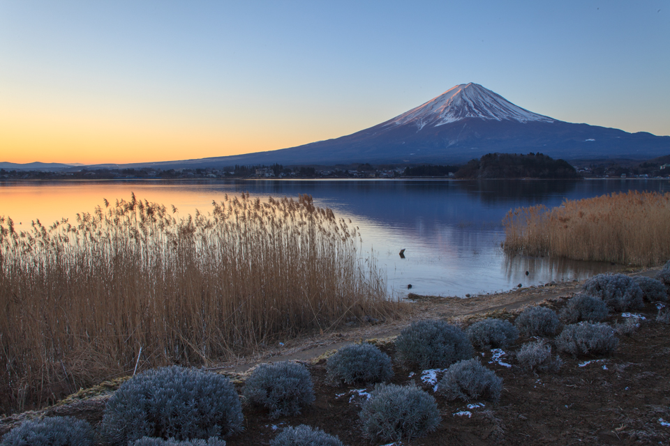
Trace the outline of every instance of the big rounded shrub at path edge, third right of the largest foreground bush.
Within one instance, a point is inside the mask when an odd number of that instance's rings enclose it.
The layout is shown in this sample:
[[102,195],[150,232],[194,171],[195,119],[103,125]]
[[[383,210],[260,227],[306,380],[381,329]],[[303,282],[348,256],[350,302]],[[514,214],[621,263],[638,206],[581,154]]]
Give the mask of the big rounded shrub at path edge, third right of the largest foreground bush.
[[413,322],[401,331],[395,346],[399,360],[423,369],[472,357],[472,344],[463,330],[444,321]]

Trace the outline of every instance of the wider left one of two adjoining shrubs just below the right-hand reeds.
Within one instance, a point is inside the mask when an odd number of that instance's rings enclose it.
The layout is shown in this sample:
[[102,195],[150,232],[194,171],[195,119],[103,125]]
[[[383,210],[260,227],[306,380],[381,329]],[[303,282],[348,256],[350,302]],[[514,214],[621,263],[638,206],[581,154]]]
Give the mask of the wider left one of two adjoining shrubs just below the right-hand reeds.
[[584,283],[587,294],[601,298],[608,307],[625,312],[642,308],[642,289],[632,277],[625,274],[599,274]]

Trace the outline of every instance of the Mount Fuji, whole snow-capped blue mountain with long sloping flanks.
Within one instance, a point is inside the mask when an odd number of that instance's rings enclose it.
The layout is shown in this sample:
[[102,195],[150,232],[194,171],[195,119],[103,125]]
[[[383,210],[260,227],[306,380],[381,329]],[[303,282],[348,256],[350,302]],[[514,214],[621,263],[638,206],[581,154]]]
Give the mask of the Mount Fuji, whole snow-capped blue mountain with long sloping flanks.
[[276,151],[154,167],[233,164],[458,163],[486,153],[539,152],[564,160],[670,154],[670,137],[574,124],[529,112],[479,84],[461,84],[408,112],[336,139]]

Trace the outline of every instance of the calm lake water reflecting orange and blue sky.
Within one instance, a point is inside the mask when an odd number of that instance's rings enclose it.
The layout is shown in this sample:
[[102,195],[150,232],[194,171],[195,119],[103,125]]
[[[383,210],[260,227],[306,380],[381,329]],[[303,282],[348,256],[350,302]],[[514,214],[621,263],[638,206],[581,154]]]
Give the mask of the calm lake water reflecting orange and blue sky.
[[411,284],[413,293],[463,297],[606,272],[609,263],[506,256],[501,220],[520,206],[560,206],[564,199],[628,190],[670,192],[670,180],[6,181],[0,182],[0,215],[27,229],[36,219],[73,222],[76,213],[92,212],[103,198],[130,199],[131,192],[172,204],[181,216],[196,208],[209,212],[224,194],[311,194],[318,206],[359,226],[361,256],[368,259],[373,250],[391,293],[405,295]]

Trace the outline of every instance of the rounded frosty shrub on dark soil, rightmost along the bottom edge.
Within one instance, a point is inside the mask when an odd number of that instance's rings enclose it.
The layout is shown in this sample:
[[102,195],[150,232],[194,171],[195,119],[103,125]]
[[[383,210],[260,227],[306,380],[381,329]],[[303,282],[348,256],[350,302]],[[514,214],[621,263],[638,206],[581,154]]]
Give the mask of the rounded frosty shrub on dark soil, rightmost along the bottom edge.
[[371,440],[417,438],[440,424],[438,404],[415,386],[378,384],[364,401],[360,413],[363,433]]

